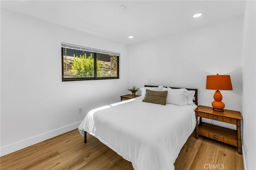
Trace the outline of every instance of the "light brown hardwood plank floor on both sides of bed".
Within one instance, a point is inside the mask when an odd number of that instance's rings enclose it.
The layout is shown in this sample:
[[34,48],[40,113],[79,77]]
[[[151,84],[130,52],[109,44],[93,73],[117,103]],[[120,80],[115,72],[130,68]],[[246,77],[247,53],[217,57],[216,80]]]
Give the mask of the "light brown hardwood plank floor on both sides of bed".
[[[34,144],[0,157],[1,170],[133,170],[98,139],[87,133],[87,143],[78,130]],[[237,148],[192,134],[174,164],[175,170],[243,170]]]

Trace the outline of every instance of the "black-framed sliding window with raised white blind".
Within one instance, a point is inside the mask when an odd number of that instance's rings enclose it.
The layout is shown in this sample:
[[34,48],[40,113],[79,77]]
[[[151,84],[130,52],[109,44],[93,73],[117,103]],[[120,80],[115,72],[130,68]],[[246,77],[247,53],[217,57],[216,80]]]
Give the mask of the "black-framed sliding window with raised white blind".
[[61,43],[62,81],[119,79],[120,53]]

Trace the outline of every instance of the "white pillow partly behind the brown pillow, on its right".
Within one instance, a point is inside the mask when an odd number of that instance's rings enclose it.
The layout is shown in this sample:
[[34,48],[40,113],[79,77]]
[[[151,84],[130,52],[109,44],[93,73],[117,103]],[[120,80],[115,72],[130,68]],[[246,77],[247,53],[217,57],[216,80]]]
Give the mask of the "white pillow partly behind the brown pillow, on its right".
[[172,89],[167,87],[168,93],[166,103],[183,106],[188,104],[188,99],[185,96],[187,89]]

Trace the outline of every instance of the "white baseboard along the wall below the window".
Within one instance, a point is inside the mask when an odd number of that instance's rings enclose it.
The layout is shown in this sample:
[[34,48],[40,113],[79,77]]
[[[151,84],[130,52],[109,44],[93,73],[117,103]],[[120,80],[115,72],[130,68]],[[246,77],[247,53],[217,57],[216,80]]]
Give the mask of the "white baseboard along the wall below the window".
[[39,134],[37,136],[33,136],[31,138],[27,138],[27,139],[21,140],[19,142],[15,142],[15,143],[9,144],[7,146],[3,146],[3,147],[0,148],[0,156],[10,154],[12,152],[15,152],[17,150],[26,148],[26,147],[31,146],[33,144],[42,142],[42,141],[47,140],[49,138],[58,136],[60,134],[66,133],[66,132],[69,132],[70,130],[74,130],[74,129],[78,128],[78,126],[80,125],[81,122],[82,121],[76,122],[76,123],[73,123],[71,125],[67,125],[65,127],[57,128],[57,129],[51,130],[49,132],[45,132],[45,133]]

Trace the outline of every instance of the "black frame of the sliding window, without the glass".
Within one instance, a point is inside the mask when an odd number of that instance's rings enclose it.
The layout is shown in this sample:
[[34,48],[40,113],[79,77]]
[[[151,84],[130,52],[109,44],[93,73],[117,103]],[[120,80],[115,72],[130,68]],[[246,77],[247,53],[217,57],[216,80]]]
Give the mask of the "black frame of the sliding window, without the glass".
[[[62,81],[84,81],[84,80],[105,80],[105,79],[119,79],[119,70],[120,70],[120,65],[119,65],[119,53],[113,53],[110,51],[104,51],[104,53],[99,53],[94,51],[89,51],[89,50],[81,50],[81,49],[75,49],[75,50],[80,50],[80,51],[86,51],[90,53],[94,53],[94,77],[76,77],[76,78],[64,78],[64,61],[63,61],[63,56],[64,56],[64,50],[63,49],[70,49],[68,47],[61,47],[61,58],[62,58]],[[84,47],[88,48],[88,47]],[[91,48],[90,48],[91,49]],[[98,50],[98,49],[97,49]],[[103,50],[98,50],[98,51],[103,51]],[[117,76],[116,77],[97,77],[97,53],[98,54],[106,54],[106,55],[114,55],[116,56],[116,65],[117,65]],[[119,54],[119,55],[117,55]]]

